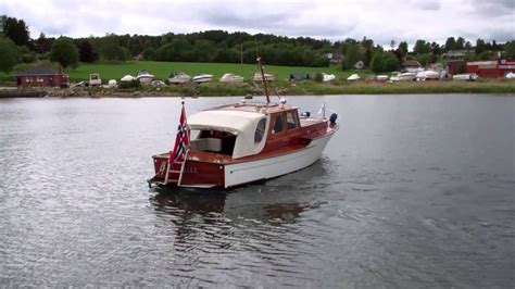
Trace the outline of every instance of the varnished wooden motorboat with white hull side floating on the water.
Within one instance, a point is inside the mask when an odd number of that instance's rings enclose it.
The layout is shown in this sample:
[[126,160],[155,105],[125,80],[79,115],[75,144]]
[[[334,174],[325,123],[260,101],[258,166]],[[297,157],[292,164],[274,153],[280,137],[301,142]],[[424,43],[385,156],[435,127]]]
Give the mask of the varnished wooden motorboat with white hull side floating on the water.
[[[258,59],[260,62],[260,59]],[[262,76],[264,72],[262,70]],[[149,185],[231,188],[278,177],[316,162],[338,130],[337,115],[299,113],[280,99],[226,104],[188,117],[183,110],[174,150],[152,156]]]

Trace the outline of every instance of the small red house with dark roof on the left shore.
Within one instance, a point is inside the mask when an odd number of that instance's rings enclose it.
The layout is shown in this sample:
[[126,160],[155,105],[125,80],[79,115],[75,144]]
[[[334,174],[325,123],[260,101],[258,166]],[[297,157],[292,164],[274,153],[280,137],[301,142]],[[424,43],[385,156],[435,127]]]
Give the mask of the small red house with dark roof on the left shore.
[[65,87],[68,76],[50,67],[33,67],[15,76],[16,86],[21,87]]

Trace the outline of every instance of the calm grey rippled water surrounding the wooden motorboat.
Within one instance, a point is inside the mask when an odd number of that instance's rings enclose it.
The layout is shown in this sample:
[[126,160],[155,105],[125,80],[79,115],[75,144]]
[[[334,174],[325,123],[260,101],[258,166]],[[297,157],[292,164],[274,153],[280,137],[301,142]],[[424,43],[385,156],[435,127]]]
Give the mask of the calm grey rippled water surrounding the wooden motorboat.
[[149,190],[180,99],[0,100],[0,286],[515,286],[514,96],[322,100],[321,161],[228,192]]

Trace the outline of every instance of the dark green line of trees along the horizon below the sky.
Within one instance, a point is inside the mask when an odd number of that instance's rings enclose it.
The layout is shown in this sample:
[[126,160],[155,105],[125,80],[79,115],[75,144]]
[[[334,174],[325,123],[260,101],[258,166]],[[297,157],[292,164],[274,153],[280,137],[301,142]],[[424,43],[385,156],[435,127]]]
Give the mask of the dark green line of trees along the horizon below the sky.
[[422,65],[440,61],[450,51],[465,51],[466,60],[515,58],[515,41],[498,45],[477,39],[473,45],[463,37],[449,37],[444,45],[418,39],[409,51],[409,43],[394,40],[390,47],[348,38],[342,41],[314,39],[311,37],[284,37],[269,34],[250,35],[208,30],[190,34],[168,33],[160,36],[115,35],[102,37],[68,38],[47,37],[43,33],[32,39],[23,20],[8,17],[4,38],[0,38],[0,71],[10,72],[18,63],[50,60],[63,67],[75,67],[79,62],[148,61],[255,63],[260,55],[267,64],[288,66],[328,66],[328,53],[337,59],[342,70],[352,70],[362,62],[363,67],[374,72],[400,68],[402,61],[417,60]]

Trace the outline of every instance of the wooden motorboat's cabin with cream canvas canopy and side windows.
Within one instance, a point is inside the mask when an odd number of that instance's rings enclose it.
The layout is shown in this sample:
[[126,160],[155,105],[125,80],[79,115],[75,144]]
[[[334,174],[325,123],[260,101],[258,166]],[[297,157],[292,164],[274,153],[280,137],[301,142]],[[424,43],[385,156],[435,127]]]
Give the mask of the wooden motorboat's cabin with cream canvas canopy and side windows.
[[267,140],[300,127],[297,108],[235,104],[193,114],[188,120],[192,152],[233,159],[258,154]]

